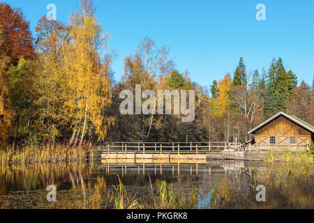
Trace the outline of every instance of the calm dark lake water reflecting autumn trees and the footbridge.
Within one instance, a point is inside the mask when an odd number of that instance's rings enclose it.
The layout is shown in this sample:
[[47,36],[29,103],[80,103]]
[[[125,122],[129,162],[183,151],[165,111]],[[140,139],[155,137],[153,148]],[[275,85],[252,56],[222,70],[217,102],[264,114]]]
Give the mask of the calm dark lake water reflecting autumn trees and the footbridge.
[[[220,178],[252,180],[253,169],[259,169],[262,172],[264,168],[264,162],[227,160],[212,160],[207,164],[180,165],[98,163],[2,167],[0,170],[0,208],[1,206],[10,208],[34,208],[35,206],[36,208],[39,206],[38,203],[47,202],[45,196],[48,193],[48,185],[54,185],[58,194],[69,196],[66,192],[70,192],[73,188],[81,190],[82,182],[84,182],[85,190],[88,187],[94,191],[99,178],[105,180],[107,187],[117,187],[119,176],[128,193],[134,192],[137,193],[137,197],[147,196],[147,199],[151,199],[149,191],[158,192],[160,180],[172,184],[174,191],[188,194],[193,188],[209,188]],[[204,195],[207,196],[207,194]],[[36,201],[38,197],[40,197],[40,202]],[[40,208],[45,208],[45,206],[40,206]]]

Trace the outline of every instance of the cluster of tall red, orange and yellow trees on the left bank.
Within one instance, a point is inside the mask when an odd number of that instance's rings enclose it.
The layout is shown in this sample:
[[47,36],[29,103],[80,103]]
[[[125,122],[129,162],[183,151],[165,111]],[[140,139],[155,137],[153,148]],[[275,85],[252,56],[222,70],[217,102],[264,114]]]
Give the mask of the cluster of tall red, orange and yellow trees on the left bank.
[[[5,56],[1,82],[6,82],[1,83],[1,128],[9,129],[14,121],[15,138],[18,132],[40,131],[52,138],[72,132],[71,144],[75,137],[82,144],[87,134],[95,141],[104,139],[114,123],[104,115],[111,102],[111,61],[110,55],[103,55],[108,36],[96,20],[91,1],[81,1],[68,26],[43,17],[36,28],[36,48],[22,13],[5,3],[0,6],[1,15],[11,13],[0,20],[6,27],[1,29],[1,56]],[[8,32],[12,29],[8,24],[21,30],[16,39],[10,38],[16,33]],[[13,49],[24,54],[17,55]],[[36,59],[31,60],[35,50]],[[2,138],[3,143],[7,141]]]

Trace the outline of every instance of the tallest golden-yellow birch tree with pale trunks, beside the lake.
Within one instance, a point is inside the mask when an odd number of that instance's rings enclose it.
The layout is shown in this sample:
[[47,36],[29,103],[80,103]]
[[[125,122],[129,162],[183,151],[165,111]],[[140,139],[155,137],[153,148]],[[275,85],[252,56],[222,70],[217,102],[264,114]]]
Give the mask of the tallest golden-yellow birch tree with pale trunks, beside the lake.
[[[80,145],[87,133],[94,130],[98,139],[104,139],[113,118],[104,116],[111,103],[110,70],[107,60],[102,61],[109,35],[96,20],[92,2],[82,0],[77,13],[70,17],[70,44],[63,51],[66,63],[66,82],[71,97],[66,110],[76,114],[72,120],[73,132],[81,132]],[[73,137],[72,137],[73,139]]]

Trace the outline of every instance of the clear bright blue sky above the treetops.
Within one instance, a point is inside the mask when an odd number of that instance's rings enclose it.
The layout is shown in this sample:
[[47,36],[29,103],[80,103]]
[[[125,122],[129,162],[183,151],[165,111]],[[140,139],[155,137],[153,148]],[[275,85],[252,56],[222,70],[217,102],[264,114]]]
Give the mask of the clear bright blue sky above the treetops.
[[[3,0],[1,0],[3,1]],[[19,7],[32,31],[48,10],[57,6],[57,20],[67,23],[79,0],[5,0]],[[257,21],[255,7],[266,6],[266,21]],[[170,47],[180,72],[189,70],[193,81],[210,85],[227,72],[233,77],[239,58],[248,71],[268,70],[281,57],[299,82],[312,84],[314,73],[314,1],[108,1],[94,0],[96,15],[110,33],[109,49],[119,54],[113,63],[119,81],[124,57],[133,54],[140,39],[149,36],[156,45]]]

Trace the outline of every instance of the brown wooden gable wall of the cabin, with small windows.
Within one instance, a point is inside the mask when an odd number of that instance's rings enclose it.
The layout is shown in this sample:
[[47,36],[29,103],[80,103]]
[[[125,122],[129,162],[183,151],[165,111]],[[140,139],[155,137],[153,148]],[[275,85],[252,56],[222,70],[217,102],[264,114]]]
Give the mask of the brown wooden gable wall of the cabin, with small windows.
[[307,143],[311,142],[311,132],[284,116],[278,116],[255,132],[258,150],[306,151]]

